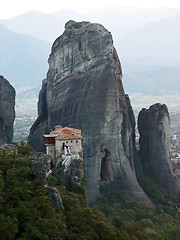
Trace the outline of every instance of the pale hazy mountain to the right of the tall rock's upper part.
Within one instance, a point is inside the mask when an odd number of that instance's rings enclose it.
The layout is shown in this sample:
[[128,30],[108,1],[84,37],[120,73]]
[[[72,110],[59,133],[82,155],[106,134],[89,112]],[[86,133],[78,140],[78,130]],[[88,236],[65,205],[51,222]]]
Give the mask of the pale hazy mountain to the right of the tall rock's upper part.
[[180,14],[138,28],[119,42],[121,56],[180,59]]

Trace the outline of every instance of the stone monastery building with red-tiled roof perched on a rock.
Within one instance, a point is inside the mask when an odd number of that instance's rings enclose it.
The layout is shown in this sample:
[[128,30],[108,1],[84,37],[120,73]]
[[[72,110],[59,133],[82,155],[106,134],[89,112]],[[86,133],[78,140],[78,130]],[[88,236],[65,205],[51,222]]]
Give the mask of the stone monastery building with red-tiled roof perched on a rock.
[[60,125],[50,134],[44,135],[46,154],[51,155],[55,165],[62,156],[71,156],[82,152],[81,130]]

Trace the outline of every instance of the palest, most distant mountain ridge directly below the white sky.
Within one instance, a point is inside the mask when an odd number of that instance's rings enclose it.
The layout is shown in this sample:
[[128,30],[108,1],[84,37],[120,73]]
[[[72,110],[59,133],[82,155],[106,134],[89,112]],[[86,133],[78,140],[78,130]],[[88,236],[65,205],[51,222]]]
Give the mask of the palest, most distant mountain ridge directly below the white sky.
[[[52,42],[57,36],[59,36],[63,32],[64,24],[69,19],[74,19],[76,21],[83,21],[84,19],[86,19],[87,21],[91,22],[101,22],[112,32],[115,43],[118,43],[119,39],[123,35],[127,34],[127,32],[132,31],[133,29],[136,29],[147,23],[158,21],[167,16],[173,16],[178,13],[180,13],[180,10],[169,8],[141,9],[128,7],[105,7],[97,10],[89,10],[84,14],[80,14],[79,12],[72,9],[64,9],[52,13],[42,13],[32,10],[7,20],[0,20],[0,22],[4,23],[4,25],[9,27],[11,30],[18,31],[19,33],[29,33],[29,31],[33,33],[34,31],[34,33],[38,34],[39,36],[40,32],[43,32],[43,37],[40,38]],[[32,17],[30,15],[32,15]],[[36,20],[37,17],[38,21]],[[107,17],[108,20],[106,20]],[[46,20],[46,18],[48,19],[48,21]],[[35,22],[35,24],[33,24],[33,27],[32,25],[29,25],[29,30],[27,31],[24,26],[24,22],[27,22],[28,24],[31,24],[31,22]],[[46,28],[44,28],[43,26],[46,26]],[[51,35],[50,33],[49,37],[46,36],[46,29],[50,29],[50,27],[51,31],[53,29],[53,34]],[[60,29],[60,31],[58,31],[57,29]],[[120,30],[118,30],[117,32],[117,29]]]

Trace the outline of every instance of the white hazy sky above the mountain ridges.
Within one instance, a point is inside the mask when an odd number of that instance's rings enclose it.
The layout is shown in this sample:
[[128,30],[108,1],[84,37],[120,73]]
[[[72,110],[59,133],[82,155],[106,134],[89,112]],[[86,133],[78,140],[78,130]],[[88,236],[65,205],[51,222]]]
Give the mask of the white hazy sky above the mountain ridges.
[[80,13],[107,6],[179,8],[180,0],[0,0],[0,19],[11,18],[29,10],[54,12],[64,8]]

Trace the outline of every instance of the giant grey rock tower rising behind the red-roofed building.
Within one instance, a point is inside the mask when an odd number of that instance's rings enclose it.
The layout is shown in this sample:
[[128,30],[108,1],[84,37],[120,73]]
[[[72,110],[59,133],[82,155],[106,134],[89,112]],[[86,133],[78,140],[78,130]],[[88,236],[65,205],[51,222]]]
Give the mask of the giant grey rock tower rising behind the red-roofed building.
[[69,21],[56,39],[39,96],[39,116],[29,143],[44,149],[43,133],[56,125],[82,130],[87,198],[101,183],[151,204],[134,169],[134,114],[122,86],[121,65],[110,32],[100,24]]

